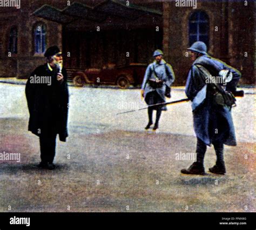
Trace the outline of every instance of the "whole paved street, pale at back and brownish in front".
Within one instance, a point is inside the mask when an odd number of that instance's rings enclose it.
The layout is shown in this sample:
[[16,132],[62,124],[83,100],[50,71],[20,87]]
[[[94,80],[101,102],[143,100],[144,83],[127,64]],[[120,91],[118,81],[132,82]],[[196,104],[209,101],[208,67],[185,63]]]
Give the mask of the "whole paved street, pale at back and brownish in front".
[[[168,107],[158,132],[144,131],[138,89],[69,87],[69,135],[58,141],[55,171],[39,170],[39,141],[27,131],[24,85],[0,83],[1,212],[255,212],[254,89],[243,89],[233,118],[238,146],[225,148],[227,175],[181,175],[196,146],[190,103]],[[185,98],[183,88],[172,99]],[[215,162],[208,148],[205,168]],[[8,209],[9,208],[9,209]]]

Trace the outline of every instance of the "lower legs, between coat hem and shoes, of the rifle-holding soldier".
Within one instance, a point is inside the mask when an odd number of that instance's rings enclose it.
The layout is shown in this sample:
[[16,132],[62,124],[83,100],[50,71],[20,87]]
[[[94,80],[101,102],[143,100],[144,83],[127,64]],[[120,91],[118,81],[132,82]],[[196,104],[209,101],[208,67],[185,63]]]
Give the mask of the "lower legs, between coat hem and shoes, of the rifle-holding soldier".
[[[216,165],[224,165],[224,144],[215,141],[212,143],[214,146],[214,150],[217,156]],[[197,162],[204,164],[204,157],[206,152],[207,146],[206,144],[197,138]]]

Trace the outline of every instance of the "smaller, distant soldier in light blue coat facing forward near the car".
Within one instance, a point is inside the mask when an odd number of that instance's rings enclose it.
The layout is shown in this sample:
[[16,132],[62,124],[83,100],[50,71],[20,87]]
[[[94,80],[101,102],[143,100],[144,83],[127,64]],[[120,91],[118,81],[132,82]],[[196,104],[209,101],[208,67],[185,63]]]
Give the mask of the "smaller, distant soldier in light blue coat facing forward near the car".
[[[165,97],[171,97],[171,85],[175,79],[172,66],[167,64],[163,59],[163,52],[161,50],[156,50],[153,53],[153,57],[155,60],[147,66],[142,83],[142,96],[145,98],[147,105],[164,103]],[[166,106],[149,107],[149,123],[145,127],[146,130],[153,124],[153,110],[157,111],[153,130],[157,130],[161,111],[166,111],[167,109]]]

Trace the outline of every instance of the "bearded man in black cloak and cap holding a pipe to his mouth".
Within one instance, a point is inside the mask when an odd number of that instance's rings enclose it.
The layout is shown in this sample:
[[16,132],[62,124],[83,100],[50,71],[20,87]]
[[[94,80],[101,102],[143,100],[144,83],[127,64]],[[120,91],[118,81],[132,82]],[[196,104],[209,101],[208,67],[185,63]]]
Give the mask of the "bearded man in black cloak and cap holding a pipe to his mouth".
[[41,168],[55,168],[56,137],[66,141],[69,92],[66,70],[62,68],[62,53],[51,46],[44,56],[47,63],[38,66],[26,83],[26,99],[30,113],[29,131],[39,137]]

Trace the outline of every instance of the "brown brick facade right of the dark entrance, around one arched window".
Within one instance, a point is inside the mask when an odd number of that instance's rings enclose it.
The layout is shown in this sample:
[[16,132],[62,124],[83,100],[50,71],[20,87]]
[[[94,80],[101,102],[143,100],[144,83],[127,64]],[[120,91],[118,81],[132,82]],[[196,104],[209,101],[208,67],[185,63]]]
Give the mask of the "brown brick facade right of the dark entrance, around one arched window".
[[241,71],[240,84],[254,84],[254,1],[197,1],[197,9],[163,3],[163,50],[184,85],[191,60],[190,17],[194,12],[208,16],[208,53]]

